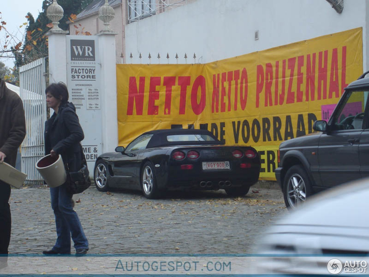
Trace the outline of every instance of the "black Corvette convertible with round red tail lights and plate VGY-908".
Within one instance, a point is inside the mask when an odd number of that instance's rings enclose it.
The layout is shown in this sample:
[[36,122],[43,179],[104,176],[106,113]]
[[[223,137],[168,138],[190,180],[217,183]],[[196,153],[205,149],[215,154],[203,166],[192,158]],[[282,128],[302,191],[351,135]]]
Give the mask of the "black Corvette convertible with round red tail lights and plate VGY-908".
[[207,130],[168,129],[146,132],[127,148],[100,155],[94,181],[99,191],[140,189],[150,199],[169,189],[225,189],[242,196],[259,172],[260,159],[252,147],[224,146]]

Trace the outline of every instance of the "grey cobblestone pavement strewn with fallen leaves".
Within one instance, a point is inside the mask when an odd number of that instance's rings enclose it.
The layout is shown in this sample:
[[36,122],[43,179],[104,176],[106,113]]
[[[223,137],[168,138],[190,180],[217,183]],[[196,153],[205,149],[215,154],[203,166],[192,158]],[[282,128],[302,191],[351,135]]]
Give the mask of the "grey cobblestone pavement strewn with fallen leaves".
[[[279,189],[258,185],[237,198],[221,190],[148,200],[140,192],[95,187],[78,196],[75,210],[95,255],[251,254],[265,227],[287,212]],[[41,254],[54,245],[49,189],[14,189],[10,206],[11,254]]]

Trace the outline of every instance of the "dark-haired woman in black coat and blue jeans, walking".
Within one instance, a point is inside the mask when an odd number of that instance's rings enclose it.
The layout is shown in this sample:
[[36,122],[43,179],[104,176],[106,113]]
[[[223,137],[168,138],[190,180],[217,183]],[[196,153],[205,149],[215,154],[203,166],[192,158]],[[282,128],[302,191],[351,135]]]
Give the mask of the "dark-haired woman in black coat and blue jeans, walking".
[[[60,154],[65,166],[70,171],[82,167],[80,141],[84,134],[79,124],[76,108],[68,102],[68,89],[62,82],[49,85],[46,90],[46,103],[54,114],[45,123],[45,154]],[[54,247],[44,250],[45,255],[70,254],[70,236],[72,236],[76,255],[84,255],[89,244],[77,213],[73,210],[72,194],[68,184],[50,188],[51,207],[55,214],[56,234]]]

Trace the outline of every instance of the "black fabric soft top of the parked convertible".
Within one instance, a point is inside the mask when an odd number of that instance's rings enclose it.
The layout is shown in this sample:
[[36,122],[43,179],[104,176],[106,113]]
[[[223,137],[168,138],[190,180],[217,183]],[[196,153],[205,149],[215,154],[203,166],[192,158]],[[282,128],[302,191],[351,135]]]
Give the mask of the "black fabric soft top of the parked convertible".
[[[144,134],[153,134],[146,148],[161,147],[161,146],[175,146],[175,145],[219,145],[222,144],[213,133],[208,130],[201,129],[162,129],[152,130]],[[207,135],[212,137],[214,140],[209,141],[168,141],[167,136],[169,135],[181,135],[181,134],[194,134],[194,135]]]

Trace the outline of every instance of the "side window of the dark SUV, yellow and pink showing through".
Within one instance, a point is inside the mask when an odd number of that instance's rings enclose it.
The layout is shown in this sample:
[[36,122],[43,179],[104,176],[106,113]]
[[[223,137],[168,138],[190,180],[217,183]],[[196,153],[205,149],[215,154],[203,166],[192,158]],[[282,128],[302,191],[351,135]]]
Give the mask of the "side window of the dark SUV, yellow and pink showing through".
[[352,91],[343,99],[340,109],[332,118],[334,130],[363,129],[363,119],[368,91]]

